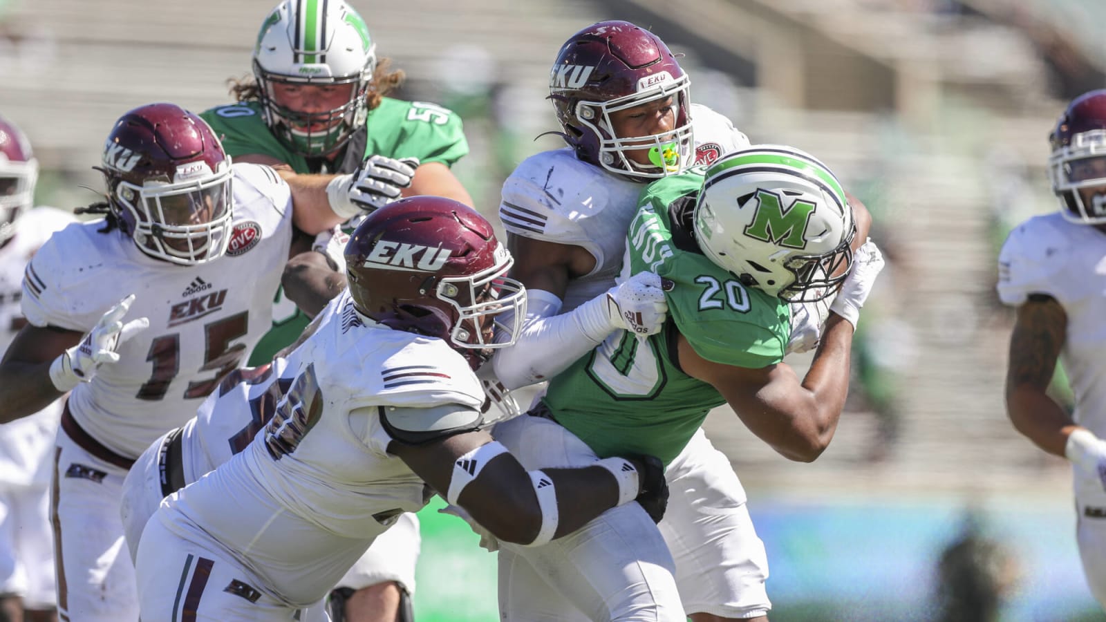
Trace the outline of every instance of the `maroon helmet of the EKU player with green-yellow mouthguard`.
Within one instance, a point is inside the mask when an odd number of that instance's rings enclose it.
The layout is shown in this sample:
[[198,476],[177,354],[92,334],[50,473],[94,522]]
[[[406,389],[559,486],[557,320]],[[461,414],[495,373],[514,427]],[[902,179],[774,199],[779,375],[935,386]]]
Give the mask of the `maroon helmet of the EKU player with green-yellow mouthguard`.
[[[550,71],[550,99],[576,157],[629,179],[681,173],[695,160],[690,81],[656,34],[625,21],[592,24],[561,48]],[[676,126],[651,136],[615,136],[611,113],[674,99]],[[627,151],[650,148],[654,165]]]

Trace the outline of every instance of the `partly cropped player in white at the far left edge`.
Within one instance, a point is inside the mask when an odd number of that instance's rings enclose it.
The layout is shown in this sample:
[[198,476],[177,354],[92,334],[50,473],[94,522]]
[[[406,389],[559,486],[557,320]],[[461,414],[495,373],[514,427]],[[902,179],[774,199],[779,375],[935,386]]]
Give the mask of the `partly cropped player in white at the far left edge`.
[[[39,163],[13,123],[0,118],[0,352],[27,323],[20,311],[23,270],[54,231],[75,218],[60,209],[31,209]],[[0,424],[0,619],[55,620],[54,556],[50,535],[51,452],[60,401]],[[7,615],[7,618],[4,618]]]

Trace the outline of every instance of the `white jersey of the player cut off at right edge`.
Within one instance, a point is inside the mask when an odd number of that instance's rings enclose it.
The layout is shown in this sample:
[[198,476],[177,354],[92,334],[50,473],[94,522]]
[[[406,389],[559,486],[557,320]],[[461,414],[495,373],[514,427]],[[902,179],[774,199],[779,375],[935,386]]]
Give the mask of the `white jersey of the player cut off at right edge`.
[[[1032,293],[1055,298],[1067,314],[1060,361],[1075,393],[1075,421],[1106,438],[1106,235],[1057,211],[1019,225],[999,255],[999,297],[1019,307]],[[1076,471],[1078,473],[1078,471]],[[1077,481],[1102,494],[1097,478]]]

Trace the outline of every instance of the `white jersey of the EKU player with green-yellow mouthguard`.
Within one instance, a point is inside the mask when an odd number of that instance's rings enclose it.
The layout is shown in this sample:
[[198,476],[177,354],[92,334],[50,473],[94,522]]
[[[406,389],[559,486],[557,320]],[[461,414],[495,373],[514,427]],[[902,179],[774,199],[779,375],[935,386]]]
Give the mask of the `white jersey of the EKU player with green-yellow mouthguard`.
[[[749,145],[728,118],[707,106],[691,105],[691,125],[696,164],[710,164]],[[614,284],[626,230],[645,187],[576,159],[570,147],[526,158],[504,182],[499,217],[509,232],[580,246],[595,258],[589,273],[568,282],[562,313]]]

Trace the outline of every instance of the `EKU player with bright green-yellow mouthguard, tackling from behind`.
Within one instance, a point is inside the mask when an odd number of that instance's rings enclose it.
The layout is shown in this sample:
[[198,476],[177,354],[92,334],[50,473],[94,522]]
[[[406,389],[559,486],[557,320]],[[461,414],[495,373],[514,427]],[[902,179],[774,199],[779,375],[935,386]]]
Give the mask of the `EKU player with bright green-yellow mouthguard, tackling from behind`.
[[[689,102],[689,80],[659,38],[628,22],[593,24],[562,46],[550,96],[567,148],[519,165],[500,205],[517,258],[512,273],[530,292],[518,344],[493,360],[509,388],[552,377],[623,328],[608,312],[608,290],[644,185],[749,145],[726,117]],[[866,226],[867,211],[854,204]],[[637,274],[620,286],[637,286],[619,309],[640,313],[641,334],[664,321],[658,283]],[[791,310],[790,350],[813,348],[828,304]],[[700,431],[667,474],[672,498],[660,527],[692,619],[765,615],[768,560],[729,459]],[[510,564],[501,554],[501,577]]]

